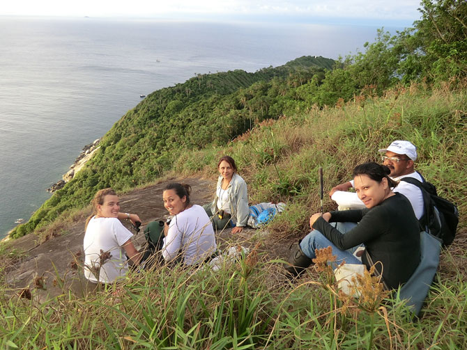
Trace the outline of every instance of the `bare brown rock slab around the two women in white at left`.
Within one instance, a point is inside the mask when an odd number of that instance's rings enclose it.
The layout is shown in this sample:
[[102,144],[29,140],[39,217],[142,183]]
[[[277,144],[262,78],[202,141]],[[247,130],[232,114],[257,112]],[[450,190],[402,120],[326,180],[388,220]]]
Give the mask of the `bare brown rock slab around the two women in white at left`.
[[[162,192],[171,181],[190,184],[192,186],[190,200],[200,205],[209,202],[215,191],[215,181],[191,177],[171,179],[168,182],[161,182],[144,189],[135,189],[120,196],[122,212],[138,214],[143,223],[139,234],[133,237],[137,248],[146,244],[143,233],[144,225],[153,220],[165,219],[167,209],[164,208],[162,202]],[[0,271],[0,275],[5,273],[0,277],[5,279],[8,293],[18,294],[28,289],[35,301],[43,303],[52,296],[68,295],[68,292],[82,295],[86,292],[87,280],[82,273],[84,221],[85,218],[70,223],[66,230],[58,228],[57,233],[61,235],[52,234],[52,238],[43,243],[34,233],[26,234],[19,239],[11,239],[8,251],[11,249],[11,251],[22,252],[24,257],[20,262],[9,267],[8,271]],[[129,230],[132,230],[129,221],[123,220],[122,222]],[[245,236],[240,234],[236,234],[235,238],[237,237],[245,240]]]

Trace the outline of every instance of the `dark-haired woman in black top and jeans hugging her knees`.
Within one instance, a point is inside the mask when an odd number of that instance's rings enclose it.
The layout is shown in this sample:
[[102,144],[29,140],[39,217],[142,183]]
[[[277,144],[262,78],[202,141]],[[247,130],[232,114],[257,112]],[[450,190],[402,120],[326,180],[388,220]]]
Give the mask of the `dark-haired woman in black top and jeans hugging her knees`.
[[[388,176],[390,170],[376,163],[361,164],[353,170],[358,198],[365,209],[344,210],[312,215],[312,232],[294,247],[287,271],[298,276],[312,263],[315,250],[332,247],[337,264],[376,263],[376,273],[383,276],[388,288],[397,288],[411,277],[420,262],[420,226],[411,203],[400,193],[391,191],[397,182]],[[358,223],[342,234],[330,222]],[[365,254],[358,260],[346,249],[363,244]]]

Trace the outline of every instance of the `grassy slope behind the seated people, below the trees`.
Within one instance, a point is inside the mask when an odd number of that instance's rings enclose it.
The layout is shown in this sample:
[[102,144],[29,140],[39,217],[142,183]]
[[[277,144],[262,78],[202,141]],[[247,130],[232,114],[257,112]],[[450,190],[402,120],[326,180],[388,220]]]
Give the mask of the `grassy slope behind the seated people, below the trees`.
[[[360,96],[335,108],[310,108],[307,113],[268,120],[225,148],[185,152],[181,159],[198,159],[198,168],[211,169],[230,154],[249,185],[250,201],[287,201],[293,220],[277,230],[298,234],[311,212],[319,209],[318,169],[323,167],[326,191],[349,180],[351,170],[364,161],[380,162],[378,149],[396,139],[418,148],[416,170],[456,202],[461,226],[466,222],[467,173],[466,90],[428,91],[422,86],[395,88],[385,97]],[[205,157],[206,156],[206,157]],[[184,173],[197,173],[181,161]],[[290,213],[305,209],[303,214]],[[326,201],[326,209],[334,204]],[[300,223],[297,223],[297,220]],[[274,228],[274,226],[273,226]]]

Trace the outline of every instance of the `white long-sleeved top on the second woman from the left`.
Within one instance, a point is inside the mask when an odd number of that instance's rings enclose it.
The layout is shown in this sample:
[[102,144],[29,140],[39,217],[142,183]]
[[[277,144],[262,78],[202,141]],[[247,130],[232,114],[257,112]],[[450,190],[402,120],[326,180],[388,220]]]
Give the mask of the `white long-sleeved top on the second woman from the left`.
[[162,256],[171,261],[182,250],[183,262],[192,265],[202,262],[216,249],[213,223],[203,207],[193,205],[171,219]]

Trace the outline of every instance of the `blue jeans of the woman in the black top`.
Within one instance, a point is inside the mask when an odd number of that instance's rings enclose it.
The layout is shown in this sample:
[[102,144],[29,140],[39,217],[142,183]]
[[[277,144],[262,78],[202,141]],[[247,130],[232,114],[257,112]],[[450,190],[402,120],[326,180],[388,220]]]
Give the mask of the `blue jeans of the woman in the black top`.
[[[337,223],[336,228],[342,234],[345,234],[345,232],[349,231],[354,226],[355,223]],[[316,257],[314,250],[328,248],[328,246],[332,248],[332,255],[336,255],[337,257],[336,262],[332,263],[332,269],[335,269],[343,260],[345,260],[347,264],[362,264],[362,262],[353,255],[353,252],[358,246],[348,250],[340,250],[318,230],[312,230],[312,232],[309,232],[300,242],[300,248],[310,259]]]

